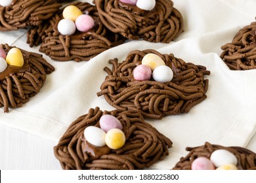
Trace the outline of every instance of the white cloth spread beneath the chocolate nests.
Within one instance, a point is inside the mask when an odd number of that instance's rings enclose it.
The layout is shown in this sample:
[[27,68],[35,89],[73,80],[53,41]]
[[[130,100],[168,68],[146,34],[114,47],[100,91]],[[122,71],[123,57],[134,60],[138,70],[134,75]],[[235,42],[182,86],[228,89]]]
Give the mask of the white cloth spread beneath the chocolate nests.
[[[86,1],[91,3],[91,1]],[[242,4],[241,4],[242,2]],[[4,114],[0,108],[0,124],[58,142],[68,125],[89,108],[114,110],[104,97],[97,97],[100,84],[110,67],[109,59],[123,61],[132,50],[147,48],[162,54],[173,53],[186,62],[204,65],[211,75],[207,99],[188,114],[165,116],[162,120],[146,120],[173,141],[170,155],[150,169],[171,169],[186,146],[200,146],[205,141],[224,146],[247,146],[256,129],[256,71],[230,71],[219,55],[221,46],[231,42],[236,32],[255,21],[255,0],[174,0],[174,7],[184,18],[184,32],[169,44],[129,41],[99,54],[90,61],[59,62],[43,54],[55,68],[41,91],[21,108]],[[26,30],[0,32],[0,42],[30,52],[39,47],[26,44]]]

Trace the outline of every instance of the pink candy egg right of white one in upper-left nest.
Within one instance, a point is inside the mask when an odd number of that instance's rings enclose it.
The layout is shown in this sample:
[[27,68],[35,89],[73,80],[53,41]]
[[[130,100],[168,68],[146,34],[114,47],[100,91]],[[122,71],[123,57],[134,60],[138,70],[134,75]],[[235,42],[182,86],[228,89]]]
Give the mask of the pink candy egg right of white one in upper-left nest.
[[91,28],[93,28],[94,25],[95,21],[93,20],[93,18],[91,18],[91,16],[87,14],[81,14],[75,20],[75,26],[77,30],[81,32],[89,31]]

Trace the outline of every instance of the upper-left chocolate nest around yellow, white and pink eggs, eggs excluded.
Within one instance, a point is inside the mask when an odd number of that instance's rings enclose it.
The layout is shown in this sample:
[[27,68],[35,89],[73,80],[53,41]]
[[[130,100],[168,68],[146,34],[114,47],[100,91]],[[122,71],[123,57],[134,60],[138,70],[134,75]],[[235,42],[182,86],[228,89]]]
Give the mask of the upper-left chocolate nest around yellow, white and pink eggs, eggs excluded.
[[58,22],[63,19],[62,8],[51,20],[28,31],[27,42],[30,46],[42,41],[40,52],[44,52],[56,61],[88,61],[96,55],[125,41],[121,35],[114,34],[100,22],[96,7],[89,3],[75,2],[83,14],[88,14],[95,21],[95,26],[87,32],[75,31],[74,35],[62,35],[58,31]]

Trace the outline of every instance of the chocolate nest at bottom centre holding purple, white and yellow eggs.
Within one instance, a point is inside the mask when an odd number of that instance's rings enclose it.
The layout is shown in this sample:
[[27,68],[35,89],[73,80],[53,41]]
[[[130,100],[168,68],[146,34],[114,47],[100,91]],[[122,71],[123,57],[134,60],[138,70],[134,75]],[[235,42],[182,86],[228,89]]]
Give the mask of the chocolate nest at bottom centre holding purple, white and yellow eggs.
[[[104,144],[95,146],[88,142],[89,140],[100,141],[102,135],[96,135],[96,133],[102,131],[100,129],[103,126],[102,116],[108,118],[110,116],[119,120],[122,126],[119,131],[123,131],[125,137],[121,148],[115,150]],[[106,123],[109,124],[109,121]],[[95,131],[90,134],[89,129]],[[106,142],[112,130],[118,131],[118,129],[109,129],[106,132]],[[86,136],[84,133],[96,137]],[[54,147],[54,155],[63,169],[144,169],[167,156],[171,144],[172,142],[167,137],[159,133],[152,125],[144,122],[143,117],[137,111],[102,112],[96,107],[91,108],[88,114],[80,116],[70,124]]]

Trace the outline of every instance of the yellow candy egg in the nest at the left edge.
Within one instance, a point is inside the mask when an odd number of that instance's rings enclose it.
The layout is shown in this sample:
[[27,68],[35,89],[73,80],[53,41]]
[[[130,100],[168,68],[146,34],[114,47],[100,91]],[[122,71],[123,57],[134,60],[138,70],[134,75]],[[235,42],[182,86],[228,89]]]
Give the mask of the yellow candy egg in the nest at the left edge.
[[6,56],[6,61],[9,65],[22,67],[24,64],[24,59],[22,52],[18,48],[11,48]]

